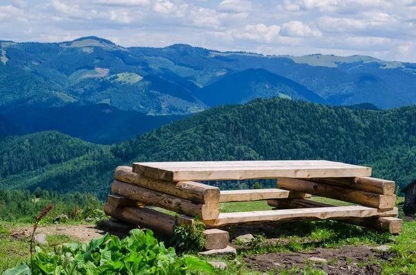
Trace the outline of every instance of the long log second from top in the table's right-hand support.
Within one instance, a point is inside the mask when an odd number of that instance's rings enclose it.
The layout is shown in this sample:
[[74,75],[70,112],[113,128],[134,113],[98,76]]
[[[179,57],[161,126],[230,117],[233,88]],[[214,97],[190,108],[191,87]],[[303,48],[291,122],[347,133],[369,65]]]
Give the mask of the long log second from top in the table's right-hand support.
[[277,184],[280,188],[287,190],[339,199],[344,202],[376,207],[377,209],[392,209],[396,204],[396,195],[379,195],[329,184],[317,184],[303,179],[278,179]]

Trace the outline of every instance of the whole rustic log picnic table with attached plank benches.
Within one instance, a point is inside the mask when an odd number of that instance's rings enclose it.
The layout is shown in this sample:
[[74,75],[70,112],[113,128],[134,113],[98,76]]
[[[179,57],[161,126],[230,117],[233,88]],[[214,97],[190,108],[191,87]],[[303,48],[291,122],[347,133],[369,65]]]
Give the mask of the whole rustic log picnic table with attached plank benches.
[[[112,195],[105,213],[141,228],[172,234],[173,226],[189,224],[196,216],[207,228],[207,240],[225,240],[236,224],[339,220],[390,233],[400,233],[395,182],[370,177],[371,168],[332,161],[197,161],[133,163],[114,172]],[[277,179],[276,188],[219,190],[198,181]],[[333,206],[311,200],[329,197],[354,206]],[[221,202],[266,200],[270,211],[220,213]],[[151,209],[174,211],[168,215]],[[212,230],[218,229],[218,230]],[[228,240],[227,240],[228,241]],[[209,242],[215,249],[227,244]],[[224,246],[224,247],[223,247]]]

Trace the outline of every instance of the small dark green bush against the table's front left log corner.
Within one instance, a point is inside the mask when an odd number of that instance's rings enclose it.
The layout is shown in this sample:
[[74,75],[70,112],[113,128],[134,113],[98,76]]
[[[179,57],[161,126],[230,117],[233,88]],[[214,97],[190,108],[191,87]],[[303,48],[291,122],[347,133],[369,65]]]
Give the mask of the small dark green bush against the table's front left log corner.
[[177,251],[200,251],[205,247],[205,238],[202,232],[205,224],[197,216],[192,224],[175,224],[171,245]]

